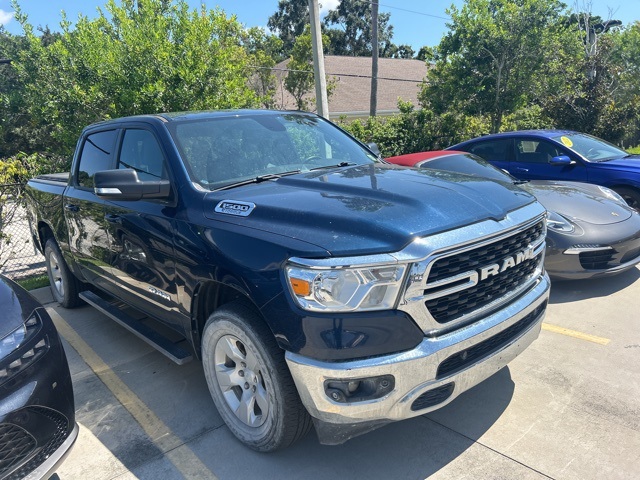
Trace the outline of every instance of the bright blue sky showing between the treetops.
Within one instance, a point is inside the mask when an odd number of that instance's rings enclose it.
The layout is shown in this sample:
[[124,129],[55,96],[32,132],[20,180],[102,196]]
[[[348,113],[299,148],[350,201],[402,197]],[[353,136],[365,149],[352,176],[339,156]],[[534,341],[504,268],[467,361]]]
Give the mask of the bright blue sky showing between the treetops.
[[[322,10],[333,7],[339,0],[320,0]],[[564,0],[570,6],[574,0]],[[119,0],[116,0],[119,3]],[[88,17],[97,15],[97,8],[107,0],[18,0],[22,10],[34,25],[48,25],[59,30],[60,12],[74,22],[81,13]],[[196,8],[200,0],[188,0]],[[278,9],[278,0],[204,0],[208,8],[219,6],[227,15],[236,15],[247,27],[266,27],[267,20]],[[391,14],[393,42],[408,44],[417,52],[423,45],[435,46],[447,32],[446,10],[455,4],[461,6],[463,0],[379,0],[380,12]],[[591,13],[602,18],[622,20],[624,25],[640,20],[640,0],[577,0],[579,6],[591,5]],[[612,12],[612,14],[610,14]],[[22,33],[17,21],[12,18],[10,0],[0,0],[0,24],[13,34]]]

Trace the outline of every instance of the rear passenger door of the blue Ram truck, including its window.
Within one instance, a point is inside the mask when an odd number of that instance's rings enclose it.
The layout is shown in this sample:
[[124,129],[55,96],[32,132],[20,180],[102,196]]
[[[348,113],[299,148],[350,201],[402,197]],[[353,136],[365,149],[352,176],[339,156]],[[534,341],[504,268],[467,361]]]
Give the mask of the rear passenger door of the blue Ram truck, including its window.
[[[119,130],[90,133],[80,146],[76,168],[63,199],[69,247],[85,279],[104,287],[110,257],[104,200],[93,190],[93,176],[112,168]],[[108,270],[108,269],[107,269]]]

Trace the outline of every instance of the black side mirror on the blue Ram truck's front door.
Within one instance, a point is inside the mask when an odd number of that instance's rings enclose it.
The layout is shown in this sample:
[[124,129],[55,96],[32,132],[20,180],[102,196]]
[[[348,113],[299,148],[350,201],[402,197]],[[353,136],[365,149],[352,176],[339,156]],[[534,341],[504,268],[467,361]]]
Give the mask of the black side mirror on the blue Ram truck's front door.
[[141,181],[132,169],[96,172],[93,181],[96,195],[106,200],[168,198],[171,194],[169,180]]

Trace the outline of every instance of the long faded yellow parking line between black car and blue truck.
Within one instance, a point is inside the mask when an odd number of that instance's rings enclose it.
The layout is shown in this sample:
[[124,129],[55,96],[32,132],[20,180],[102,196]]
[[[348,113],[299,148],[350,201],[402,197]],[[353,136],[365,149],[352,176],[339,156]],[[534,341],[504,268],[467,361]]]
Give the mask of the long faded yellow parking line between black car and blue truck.
[[[105,384],[122,406],[135,418],[151,441],[164,453],[165,457],[184,478],[217,479],[191,449],[120,380],[118,375],[56,311],[48,309],[48,312],[60,334],[78,352],[89,368],[93,370],[93,373]],[[178,450],[179,447],[182,448]]]

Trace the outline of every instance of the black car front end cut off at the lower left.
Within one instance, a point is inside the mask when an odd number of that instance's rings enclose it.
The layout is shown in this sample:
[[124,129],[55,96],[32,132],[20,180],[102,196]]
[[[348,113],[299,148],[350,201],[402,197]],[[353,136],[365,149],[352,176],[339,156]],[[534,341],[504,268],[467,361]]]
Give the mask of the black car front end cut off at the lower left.
[[78,436],[71,375],[47,311],[0,275],[0,478],[49,478]]

